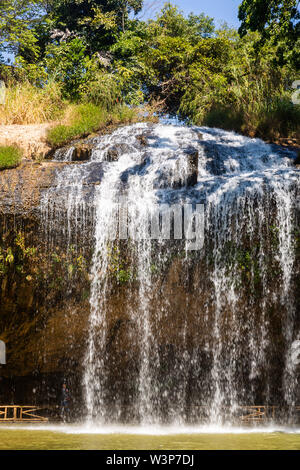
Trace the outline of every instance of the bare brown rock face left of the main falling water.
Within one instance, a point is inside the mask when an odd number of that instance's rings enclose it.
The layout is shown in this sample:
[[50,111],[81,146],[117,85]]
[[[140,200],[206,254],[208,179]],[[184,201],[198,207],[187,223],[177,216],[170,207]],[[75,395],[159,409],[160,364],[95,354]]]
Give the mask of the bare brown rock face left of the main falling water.
[[77,286],[70,266],[83,270],[84,260],[59,247],[49,252],[40,213],[41,194],[66,165],[24,162],[0,172],[0,337],[7,345],[1,402],[57,400],[61,375],[83,354],[89,285],[83,275]]

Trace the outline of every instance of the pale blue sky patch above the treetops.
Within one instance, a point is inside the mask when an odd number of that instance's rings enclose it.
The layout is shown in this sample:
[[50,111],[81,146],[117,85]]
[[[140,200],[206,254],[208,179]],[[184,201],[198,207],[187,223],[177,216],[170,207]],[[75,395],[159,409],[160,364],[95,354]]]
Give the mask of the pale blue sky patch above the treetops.
[[[145,0],[143,19],[155,17],[155,13],[161,9],[166,0]],[[216,26],[226,21],[229,26],[238,28],[238,7],[242,0],[171,0],[171,3],[177,5],[184,13],[205,13],[215,18]],[[151,4],[153,7],[151,8]]]

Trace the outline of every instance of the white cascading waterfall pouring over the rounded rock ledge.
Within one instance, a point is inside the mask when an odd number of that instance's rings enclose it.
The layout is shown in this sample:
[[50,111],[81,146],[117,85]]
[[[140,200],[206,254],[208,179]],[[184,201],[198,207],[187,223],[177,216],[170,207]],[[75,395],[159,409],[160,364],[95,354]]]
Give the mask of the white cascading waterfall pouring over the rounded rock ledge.
[[[57,159],[70,162],[73,149]],[[90,421],[220,423],[239,405],[297,403],[291,157],[258,139],[165,122],[95,138],[89,161],[66,165],[41,208],[52,243],[57,232],[68,246],[82,233],[93,242],[83,377]],[[120,198],[128,237],[118,237]],[[159,218],[160,237],[149,236],[158,207],[162,218],[167,207],[196,204],[204,205],[203,247],[176,239],[175,215],[171,240]]]

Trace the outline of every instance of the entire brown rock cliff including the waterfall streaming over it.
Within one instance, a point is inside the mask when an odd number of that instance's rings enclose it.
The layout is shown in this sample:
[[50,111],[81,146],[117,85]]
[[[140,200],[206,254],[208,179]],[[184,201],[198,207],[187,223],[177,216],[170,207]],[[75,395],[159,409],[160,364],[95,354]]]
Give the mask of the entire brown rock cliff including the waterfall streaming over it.
[[[147,124],[82,148],[0,172],[0,401],[58,403],[65,377],[76,415],[107,420],[294,403],[299,173],[286,155]],[[118,195],[142,197],[138,226],[153,201],[205,202],[203,249],[109,241]]]

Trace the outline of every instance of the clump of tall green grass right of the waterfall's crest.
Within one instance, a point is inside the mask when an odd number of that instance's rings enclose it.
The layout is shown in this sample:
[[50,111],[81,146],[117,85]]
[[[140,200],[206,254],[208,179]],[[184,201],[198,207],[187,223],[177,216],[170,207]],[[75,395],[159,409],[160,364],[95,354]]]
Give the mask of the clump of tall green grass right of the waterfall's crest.
[[299,139],[300,106],[291,103],[290,95],[269,76],[236,80],[228,91],[228,103],[214,103],[202,123],[262,139]]

